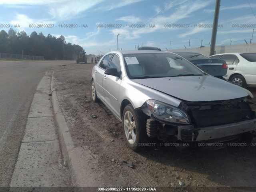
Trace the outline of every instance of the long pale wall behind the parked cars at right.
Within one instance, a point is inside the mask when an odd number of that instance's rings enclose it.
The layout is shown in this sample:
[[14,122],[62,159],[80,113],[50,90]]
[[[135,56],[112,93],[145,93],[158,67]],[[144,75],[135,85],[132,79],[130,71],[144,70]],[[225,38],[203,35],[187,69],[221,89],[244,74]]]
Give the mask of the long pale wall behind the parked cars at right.
[[[196,52],[196,53],[203,54],[205,56],[209,56],[210,46],[170,50],[170,52],[179,52],[179,51]],[[256,53],[256,43],[216,46],[214,50],[214,54],[221,54],[221,53]]]

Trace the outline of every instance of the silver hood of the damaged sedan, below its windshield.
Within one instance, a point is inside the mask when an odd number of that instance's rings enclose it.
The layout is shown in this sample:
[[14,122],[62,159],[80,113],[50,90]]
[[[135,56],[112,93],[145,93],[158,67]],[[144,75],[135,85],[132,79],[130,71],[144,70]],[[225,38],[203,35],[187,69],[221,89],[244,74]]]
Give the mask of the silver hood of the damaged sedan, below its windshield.
[[230,100],[248,96],[248,92],[239,86],[212,76],[148,78],[133,81],[192,102]]

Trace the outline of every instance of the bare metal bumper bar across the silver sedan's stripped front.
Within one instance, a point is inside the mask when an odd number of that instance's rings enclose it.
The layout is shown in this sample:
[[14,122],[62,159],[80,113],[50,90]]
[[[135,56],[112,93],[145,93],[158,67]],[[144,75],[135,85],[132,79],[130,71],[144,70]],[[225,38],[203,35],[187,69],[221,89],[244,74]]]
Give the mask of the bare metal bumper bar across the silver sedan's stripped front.
[[184,142],[227,138],[246,132],[256,132],[256,119],[226,125],[194,128],[192,125],[178,126],[178,140]]

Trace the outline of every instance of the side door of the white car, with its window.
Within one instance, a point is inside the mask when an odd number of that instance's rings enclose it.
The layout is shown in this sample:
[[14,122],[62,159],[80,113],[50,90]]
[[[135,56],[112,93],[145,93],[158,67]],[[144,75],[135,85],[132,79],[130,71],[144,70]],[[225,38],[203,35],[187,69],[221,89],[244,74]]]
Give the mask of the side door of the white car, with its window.
[[226,80],[228,80],[230,75],[236,71],[239,59],[233,54],[224,54],[220,57],[220,59],[226,61],[226,64],[228,65],[227,74],[223,76]]

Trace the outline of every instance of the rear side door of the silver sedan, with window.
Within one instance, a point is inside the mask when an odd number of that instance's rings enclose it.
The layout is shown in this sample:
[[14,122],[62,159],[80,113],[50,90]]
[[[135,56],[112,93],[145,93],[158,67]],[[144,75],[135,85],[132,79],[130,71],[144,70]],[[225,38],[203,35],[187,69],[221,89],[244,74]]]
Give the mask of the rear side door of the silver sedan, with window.
[[95,70],[95,78],[96,78],[96,92],[97,92],[97,96],[104,101],[104,92],[103,92],[103,85],[102,85],[102,80],[103,80],[103,75],[104,72],[108,66],[108,63],[111,59],[111,57],[113,56],[113,54],[108,54],[106,55],[102,61],[100,62],[97,70]]

